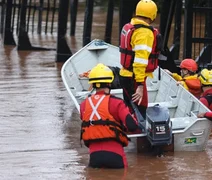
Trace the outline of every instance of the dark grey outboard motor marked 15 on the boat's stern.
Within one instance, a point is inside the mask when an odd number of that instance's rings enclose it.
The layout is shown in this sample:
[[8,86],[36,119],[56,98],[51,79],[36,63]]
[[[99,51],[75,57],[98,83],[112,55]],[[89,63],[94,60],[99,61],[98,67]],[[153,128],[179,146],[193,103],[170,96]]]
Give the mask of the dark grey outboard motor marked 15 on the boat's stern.
[[159,104],[148,107],[146,112],[147,138],[152,146],[172,143],[172,123],[169,110]]

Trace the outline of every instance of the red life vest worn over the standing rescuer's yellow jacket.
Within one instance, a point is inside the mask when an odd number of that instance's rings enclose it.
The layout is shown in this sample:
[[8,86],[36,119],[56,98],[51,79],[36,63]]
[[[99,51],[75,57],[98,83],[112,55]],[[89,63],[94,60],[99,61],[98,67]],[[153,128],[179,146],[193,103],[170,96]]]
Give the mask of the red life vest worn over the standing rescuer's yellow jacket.
[[154,34],[152,52],[149,56],[148,65],[146,67],[146,72],[153,72],[158,66],[158,56],[162,47],[162,36],[156,28],[143,24],[132,25],[127,23],[122,28],[119,47],[119,51],[121,52],[121,65],[129,71],[132,71],[133,69],[132,64],[134,62],[135,52],[132,50],[130,42],[133,31],[138,28],[148,28]]

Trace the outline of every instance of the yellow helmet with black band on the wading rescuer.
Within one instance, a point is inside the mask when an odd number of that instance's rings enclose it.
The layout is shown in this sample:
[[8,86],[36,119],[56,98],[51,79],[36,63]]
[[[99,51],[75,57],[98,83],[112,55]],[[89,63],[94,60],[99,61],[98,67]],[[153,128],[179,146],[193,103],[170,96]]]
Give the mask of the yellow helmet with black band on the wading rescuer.
[[97,64],[89,73],[89,84],[112,83],[113,71],[102,63]]

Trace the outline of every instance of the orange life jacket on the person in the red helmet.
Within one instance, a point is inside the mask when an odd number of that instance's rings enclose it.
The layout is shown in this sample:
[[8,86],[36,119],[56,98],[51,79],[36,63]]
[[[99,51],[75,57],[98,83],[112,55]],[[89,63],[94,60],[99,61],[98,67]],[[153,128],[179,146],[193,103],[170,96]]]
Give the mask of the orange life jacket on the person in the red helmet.
[[186,85],[188,86],[188,91],[196,97],[200,97],[202,93],[201,82],[199,79],[186,79]]

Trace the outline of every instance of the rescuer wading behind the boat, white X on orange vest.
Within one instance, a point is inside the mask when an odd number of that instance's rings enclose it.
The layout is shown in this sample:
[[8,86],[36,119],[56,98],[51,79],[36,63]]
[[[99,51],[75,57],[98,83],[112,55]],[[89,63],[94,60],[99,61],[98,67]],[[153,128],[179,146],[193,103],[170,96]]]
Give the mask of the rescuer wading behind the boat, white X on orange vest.
[[110,94],[113,80],[108,66],[95,66],[90,71],[89,83],[96,93],[80,104],[81,138],[89,148],[89,166],[93,168],[127,167],[123,148],[129,141],[126,132],[138,128],[124,101]]

